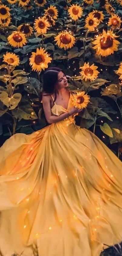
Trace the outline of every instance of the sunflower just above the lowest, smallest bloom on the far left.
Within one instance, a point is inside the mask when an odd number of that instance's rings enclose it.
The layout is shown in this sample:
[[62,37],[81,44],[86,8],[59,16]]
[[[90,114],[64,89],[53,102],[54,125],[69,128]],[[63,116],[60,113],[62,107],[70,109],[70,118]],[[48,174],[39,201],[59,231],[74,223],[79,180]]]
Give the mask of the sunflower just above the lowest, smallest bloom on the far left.
[[24,33],[13,31],[10,36],[8,36],[8,43],[14,47],[22,47],[26,45],[27,40]]

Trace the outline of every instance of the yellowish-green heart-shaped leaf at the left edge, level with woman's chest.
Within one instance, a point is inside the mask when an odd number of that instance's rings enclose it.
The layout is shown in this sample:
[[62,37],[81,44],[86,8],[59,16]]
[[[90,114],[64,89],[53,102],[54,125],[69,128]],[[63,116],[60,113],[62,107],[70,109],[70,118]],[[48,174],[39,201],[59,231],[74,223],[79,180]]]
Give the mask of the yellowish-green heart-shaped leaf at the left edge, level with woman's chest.
[[9,109],[14,109],[18,106],[18,103],[21,100],[21,94],[15,93],[12,98],[9,98],[7,92],[2,92],[0,94],[0,100],[5,104],[5,106],[9,107]]

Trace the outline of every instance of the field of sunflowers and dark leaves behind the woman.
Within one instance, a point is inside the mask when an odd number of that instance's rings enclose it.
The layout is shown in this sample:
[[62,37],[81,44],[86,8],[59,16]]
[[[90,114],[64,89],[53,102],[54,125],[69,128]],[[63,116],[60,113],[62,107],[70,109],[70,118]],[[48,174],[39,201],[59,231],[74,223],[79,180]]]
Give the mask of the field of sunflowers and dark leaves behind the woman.
[[47,125],[40,92],[56,66],[90,96],[76,124],[122,160],[121,16],[122,0],[0,0],[1,145]]

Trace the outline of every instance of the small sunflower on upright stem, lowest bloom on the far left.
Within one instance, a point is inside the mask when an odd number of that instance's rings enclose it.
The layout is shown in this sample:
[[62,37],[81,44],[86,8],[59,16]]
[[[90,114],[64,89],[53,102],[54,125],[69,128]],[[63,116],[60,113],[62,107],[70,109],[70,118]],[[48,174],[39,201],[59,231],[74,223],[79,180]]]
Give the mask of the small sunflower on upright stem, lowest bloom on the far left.
[[8,52],[3,55],[3,62],[16,67],[19,65],[19,57],[15,53]]

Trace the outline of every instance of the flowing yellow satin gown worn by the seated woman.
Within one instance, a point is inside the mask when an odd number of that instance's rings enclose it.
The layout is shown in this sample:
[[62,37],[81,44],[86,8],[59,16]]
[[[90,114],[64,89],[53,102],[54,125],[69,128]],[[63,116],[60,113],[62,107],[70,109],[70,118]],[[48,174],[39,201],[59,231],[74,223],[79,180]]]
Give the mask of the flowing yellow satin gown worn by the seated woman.
[[122,162],[73,116],[15,134],[0,148],[0,211],[4,256],[99,256],[122,240]]

